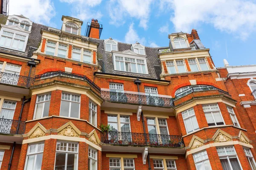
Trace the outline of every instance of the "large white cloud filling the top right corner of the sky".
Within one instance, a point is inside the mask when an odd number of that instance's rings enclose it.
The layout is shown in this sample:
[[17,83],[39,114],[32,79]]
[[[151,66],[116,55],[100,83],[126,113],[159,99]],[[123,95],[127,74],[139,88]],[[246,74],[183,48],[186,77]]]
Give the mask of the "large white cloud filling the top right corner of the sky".
[[176,31],[190,32],[201,23],[246,39],[256,31],[256,4],[248,0],[172,0]]

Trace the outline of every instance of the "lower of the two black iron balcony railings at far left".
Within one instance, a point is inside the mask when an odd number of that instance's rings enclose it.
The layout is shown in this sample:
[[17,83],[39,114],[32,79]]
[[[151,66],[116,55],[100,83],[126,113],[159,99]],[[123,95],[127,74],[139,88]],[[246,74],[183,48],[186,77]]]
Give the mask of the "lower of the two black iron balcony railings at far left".
[[11,120],[11,119],[0,119],[0,133],[22,135],[25,132],[26,122]]

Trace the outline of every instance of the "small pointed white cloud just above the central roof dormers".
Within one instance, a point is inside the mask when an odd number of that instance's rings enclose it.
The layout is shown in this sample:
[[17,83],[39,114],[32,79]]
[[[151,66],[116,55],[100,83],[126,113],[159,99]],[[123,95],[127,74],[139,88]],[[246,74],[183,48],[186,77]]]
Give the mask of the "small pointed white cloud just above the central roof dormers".
[[137,32],[134,30],[134,23],[131,23],[129,26],[128,32],[125,34],[125,42],[134,44],[135,42],[140,42],[140,44],[145,44],[145,38],[140,38]]

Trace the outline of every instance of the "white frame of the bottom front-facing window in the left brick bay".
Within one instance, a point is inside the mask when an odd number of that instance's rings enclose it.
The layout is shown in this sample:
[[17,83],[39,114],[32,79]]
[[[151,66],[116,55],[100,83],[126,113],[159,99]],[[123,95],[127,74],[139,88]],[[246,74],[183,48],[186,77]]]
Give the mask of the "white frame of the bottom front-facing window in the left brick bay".
[[[58,147],[58,143],[66,143],[66,150],[65,151],[62,151],[62,150],[57,150],[57,147]],[[77,152],[75,151],[68,151],[68,144],[77,144]],[[75,148],[75,147],[74,147]],[[65,168],[64,170],[67,170],[67,154],[68,153],[71,153],[71,154],[77,154],[77,157],[76,157],[76,167],[74,170],[78,170],[78,161],[79,161],[79,143],[76,143],[76,142],[63,142],[63,141],[57,141],[57,144],[56,144],[56,149],[55,149],[55,161],[54,161],[54,169],[55,169],[55,164],[56,164],[56,153],[65,153],[66,154],[66,158],[65,158]]]

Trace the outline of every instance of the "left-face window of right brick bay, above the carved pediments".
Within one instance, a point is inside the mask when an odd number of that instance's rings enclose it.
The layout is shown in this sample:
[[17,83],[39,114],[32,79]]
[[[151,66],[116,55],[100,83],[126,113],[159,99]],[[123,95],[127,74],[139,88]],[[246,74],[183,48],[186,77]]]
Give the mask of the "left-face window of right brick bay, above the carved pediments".
[[189,110],[183,111],[182,117],[186,128],[186,133],[191,133],[199,129],[194,108],[190,108]]

